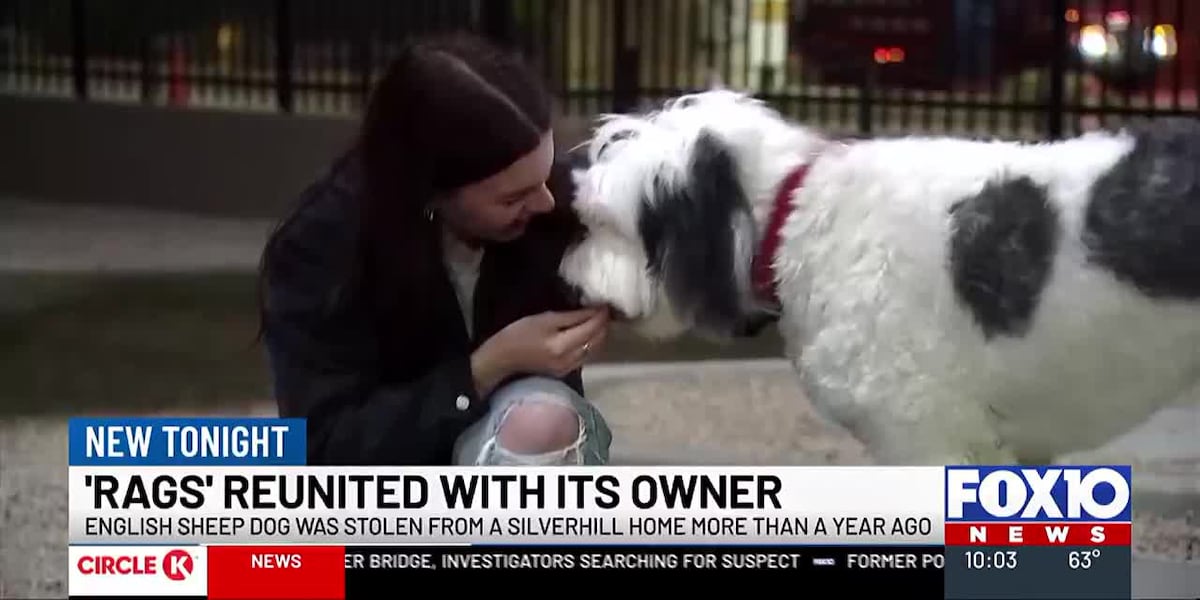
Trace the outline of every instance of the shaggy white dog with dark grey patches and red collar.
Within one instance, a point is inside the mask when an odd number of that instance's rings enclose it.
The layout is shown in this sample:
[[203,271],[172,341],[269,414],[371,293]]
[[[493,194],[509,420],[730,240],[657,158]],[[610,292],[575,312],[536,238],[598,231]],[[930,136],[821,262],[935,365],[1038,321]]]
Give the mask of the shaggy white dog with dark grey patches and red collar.
[[892,464],[1050,463],[1200,380],[1200,125],[838,142],[728,90],[608,115],[563,277],[646,336],[778,323]]

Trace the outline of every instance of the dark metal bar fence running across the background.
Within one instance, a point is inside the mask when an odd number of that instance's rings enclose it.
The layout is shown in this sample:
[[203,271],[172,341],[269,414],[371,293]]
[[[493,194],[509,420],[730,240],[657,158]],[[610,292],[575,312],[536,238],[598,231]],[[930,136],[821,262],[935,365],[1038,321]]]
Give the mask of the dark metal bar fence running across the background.
[[1195,0],[0,0],[0,94],[353,115],[409,35],[469,29],[565,114],[714,82],[844,134],[1052,138],[1194,114]]

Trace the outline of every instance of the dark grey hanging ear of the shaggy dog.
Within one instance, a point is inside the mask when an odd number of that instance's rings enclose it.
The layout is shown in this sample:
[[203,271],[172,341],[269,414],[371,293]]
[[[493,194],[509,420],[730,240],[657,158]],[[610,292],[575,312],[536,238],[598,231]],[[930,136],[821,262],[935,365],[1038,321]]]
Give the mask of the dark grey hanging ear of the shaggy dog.
[[745,319],[746,236],[752,223],[733,152],[703,131],[682,178],[655,182],[638,228],[652,274],[676,312],[702,330],[738,335]]

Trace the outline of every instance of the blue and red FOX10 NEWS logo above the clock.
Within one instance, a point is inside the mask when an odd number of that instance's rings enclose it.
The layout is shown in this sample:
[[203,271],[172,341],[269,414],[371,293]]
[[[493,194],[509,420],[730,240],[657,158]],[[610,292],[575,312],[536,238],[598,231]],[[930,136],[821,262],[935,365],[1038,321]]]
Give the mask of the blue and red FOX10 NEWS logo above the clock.
[[947,467],[947,546],[1128,546],[1132,469]]

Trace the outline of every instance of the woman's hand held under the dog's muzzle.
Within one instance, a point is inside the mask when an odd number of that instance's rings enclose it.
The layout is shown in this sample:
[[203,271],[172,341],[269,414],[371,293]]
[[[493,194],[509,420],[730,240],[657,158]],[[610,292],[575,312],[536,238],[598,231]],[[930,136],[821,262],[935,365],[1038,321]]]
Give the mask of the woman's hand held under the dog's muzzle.
[[481,395],[512,373],[563,377],[583,365],[608,332],[607,308],[544,312],[509,324],[472,355]]

